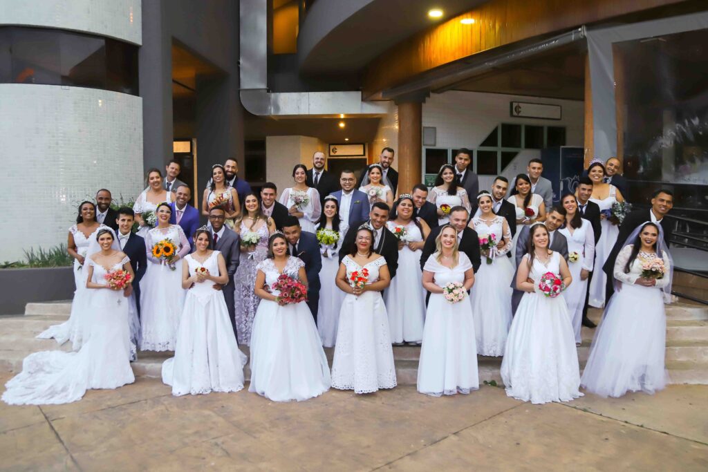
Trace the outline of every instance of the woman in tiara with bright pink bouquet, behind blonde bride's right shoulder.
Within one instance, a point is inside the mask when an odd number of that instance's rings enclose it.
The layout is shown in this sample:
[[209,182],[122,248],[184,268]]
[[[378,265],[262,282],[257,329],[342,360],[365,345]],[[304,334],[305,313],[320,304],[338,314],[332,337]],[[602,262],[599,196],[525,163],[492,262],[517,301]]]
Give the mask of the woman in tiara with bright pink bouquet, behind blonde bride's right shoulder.
[[512,316],[511,287],[499,283],[514,277],[514,267],[506,257],[511,246],[511,231],[506,218],[494,214],[490,192],[479,192],[477,202],[479,217],[472,218],[468,226],[476,231],[480,240],[482,264],[469,302],[474,316],[477,353],[498,357],[504,355]]

